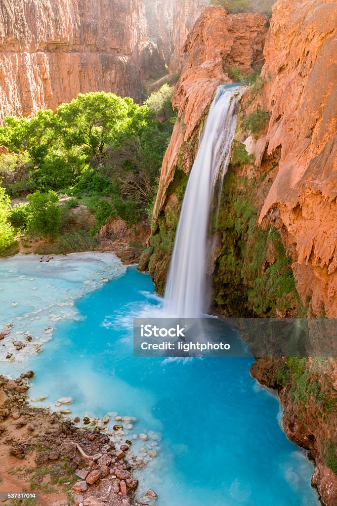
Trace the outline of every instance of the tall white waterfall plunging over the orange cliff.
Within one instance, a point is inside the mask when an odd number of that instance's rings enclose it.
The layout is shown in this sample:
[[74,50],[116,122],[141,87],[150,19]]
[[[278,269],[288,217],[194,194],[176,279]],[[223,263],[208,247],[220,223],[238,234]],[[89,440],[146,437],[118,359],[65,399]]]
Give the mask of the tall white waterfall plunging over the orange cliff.
[[[198,153],[188,180],[166,283],[164,311],[198,318],[207,311],[207,230],[215,184],[223,181],[235,134],[237,85],[219,88],[210,107]],[[221,184],[222,186],[222,184]]]

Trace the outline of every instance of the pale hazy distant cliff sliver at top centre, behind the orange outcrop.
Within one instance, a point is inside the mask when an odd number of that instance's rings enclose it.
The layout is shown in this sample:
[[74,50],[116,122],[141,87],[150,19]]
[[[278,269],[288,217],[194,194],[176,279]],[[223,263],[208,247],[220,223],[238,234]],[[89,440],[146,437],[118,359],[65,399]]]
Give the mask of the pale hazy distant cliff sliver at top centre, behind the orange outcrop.
[[208,5],[209,0],[175,0],[173,14],[174,54],[171,56],[171,74],[181,71],[187,35]]

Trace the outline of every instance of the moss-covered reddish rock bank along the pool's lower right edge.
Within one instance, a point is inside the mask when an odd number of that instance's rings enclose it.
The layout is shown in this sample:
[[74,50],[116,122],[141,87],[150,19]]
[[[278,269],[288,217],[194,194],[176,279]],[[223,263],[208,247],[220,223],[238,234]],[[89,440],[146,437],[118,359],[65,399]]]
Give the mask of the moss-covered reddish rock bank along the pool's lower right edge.
[[337,474],[333,359],[324,357],[264,358],[251,367],[252,375],[278,390],[284,406],[287,435]]

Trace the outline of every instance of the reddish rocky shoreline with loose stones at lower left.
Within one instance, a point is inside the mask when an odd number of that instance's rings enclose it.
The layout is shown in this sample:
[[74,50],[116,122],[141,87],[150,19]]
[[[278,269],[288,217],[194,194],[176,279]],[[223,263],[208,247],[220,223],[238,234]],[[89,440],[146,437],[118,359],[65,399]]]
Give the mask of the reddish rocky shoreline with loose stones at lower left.
[[[145,459],[132,454],[132,441],[122,441],[122,425],[116,437],[104,434],[108,417],[96,424],[65,418],[60,412],[29,403],[28,380],[32,371],[15,381],[0,375],[0,491],[39,492],[39,506],[146,506],[156,499],[153,490],[138,502],[137,468]],[[128,421],[116,417],[119,423]],[[141,435],[142,436],[142,435]],[[140,437],[141,437],[140,436]],[[147,435],[143,435],[147,438]],[[16,505],[14,500],[5,504]],[[34,502],[29,502],[30,505]]]

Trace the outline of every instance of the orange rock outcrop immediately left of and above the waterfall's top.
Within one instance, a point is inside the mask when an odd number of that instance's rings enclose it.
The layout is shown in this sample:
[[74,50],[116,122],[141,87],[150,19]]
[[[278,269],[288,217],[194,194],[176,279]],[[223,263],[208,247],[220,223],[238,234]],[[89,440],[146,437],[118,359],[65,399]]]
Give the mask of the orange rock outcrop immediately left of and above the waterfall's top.
[[183,71],[172,99],[177,121],[166,151],[153,211],[156,220],[166,200],[166,190],[179,164],[188,174],[196,149],[195,135],[221,83],[232,82],[226,72],[234,65],[242,72],[261,60],[267,20],[261,14],[227,15],[222,7],[208,7],[187,37]]

